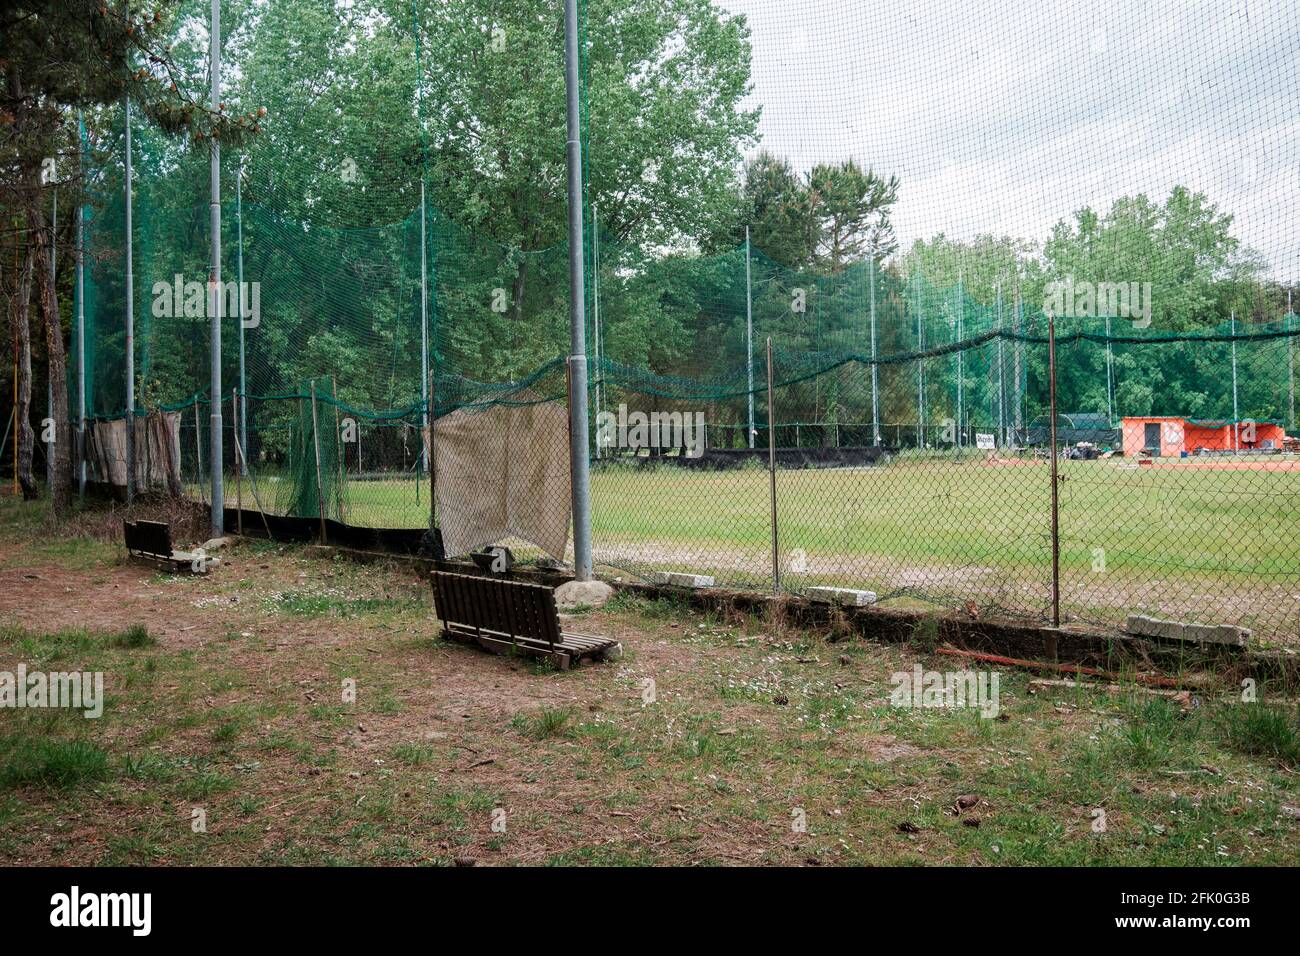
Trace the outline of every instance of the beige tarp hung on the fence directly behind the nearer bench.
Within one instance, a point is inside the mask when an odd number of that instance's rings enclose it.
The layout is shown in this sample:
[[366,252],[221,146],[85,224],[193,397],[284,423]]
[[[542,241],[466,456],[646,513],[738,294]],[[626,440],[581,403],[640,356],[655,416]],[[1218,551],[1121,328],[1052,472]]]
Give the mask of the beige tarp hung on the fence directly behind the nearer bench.
[[438,525],[448,557],[519,537],[564,559],[569,529],[564,405],[454,411],[436,423],[433,453]]

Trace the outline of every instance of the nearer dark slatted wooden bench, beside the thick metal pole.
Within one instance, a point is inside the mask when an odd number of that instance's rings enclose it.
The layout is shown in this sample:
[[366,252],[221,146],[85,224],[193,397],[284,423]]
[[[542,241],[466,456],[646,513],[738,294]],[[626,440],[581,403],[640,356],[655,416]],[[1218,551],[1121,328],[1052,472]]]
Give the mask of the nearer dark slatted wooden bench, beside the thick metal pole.
[[623,645],[607,637],[566,633],[555,592],[543,584],[434,571],[433,604],[443,633],[497,654],[549,657],[560,670],[581,659],[607,659]]

